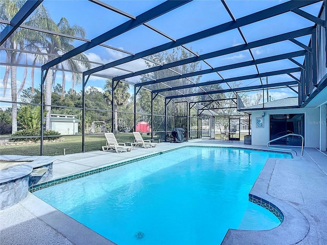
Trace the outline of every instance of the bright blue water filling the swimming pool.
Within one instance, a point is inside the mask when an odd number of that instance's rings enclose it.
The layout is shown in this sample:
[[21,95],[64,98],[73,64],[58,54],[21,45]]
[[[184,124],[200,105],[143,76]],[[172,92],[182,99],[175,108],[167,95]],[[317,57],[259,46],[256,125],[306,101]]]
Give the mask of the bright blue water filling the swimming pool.
[[183,148],[33,194],[118,244],[220,244],[228,228],[280,224],[248,201],[268,157],[290,158]]

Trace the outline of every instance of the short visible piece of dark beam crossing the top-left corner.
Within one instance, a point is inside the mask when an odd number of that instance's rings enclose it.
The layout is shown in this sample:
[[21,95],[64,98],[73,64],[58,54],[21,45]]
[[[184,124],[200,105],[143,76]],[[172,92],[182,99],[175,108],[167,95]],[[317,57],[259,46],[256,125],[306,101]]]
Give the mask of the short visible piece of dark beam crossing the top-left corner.
[[10,20],[10,25],[0,33],[0,45],[2,45],[11,34],[23,23],[31,13],[43,2],[43,0],[29,0],[18,10],[15,16]]

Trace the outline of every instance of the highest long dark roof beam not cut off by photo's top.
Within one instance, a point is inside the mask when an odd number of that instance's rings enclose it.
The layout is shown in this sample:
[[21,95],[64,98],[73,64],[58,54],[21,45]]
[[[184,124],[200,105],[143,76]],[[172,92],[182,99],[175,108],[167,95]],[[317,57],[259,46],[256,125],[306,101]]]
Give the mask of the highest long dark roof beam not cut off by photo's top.
[[[171,63],[164,64],[164,65],[161,65],[161,66],[155,66],[155,67],[152,67],[152,68],[136,71],[136,72],[133,72],[131,74],[126,74],[126,75],[115,77],[114,79],[131,78],[131,77],[139,76],[139,75],[142,75],[142,74],[148,74],[150,72],[154,72],[154,71],[158,71],[158,70],[169,69],[169,68],[176,67],[176,66],[179,66],[179,65],[185,65],[185,64],[189,64],[189,63],[193,63],[193,62],[202,61],[202,60],[205,60],[205,59],[215,58],[215,57],[222,56],[222,55],[228,55],[228,54],[232,54],[232,53],[236,53],[236,52],[240,52],[240,51],[245,51],[245,50],[248,50],[249,48],[255,48],[255,47],[260,47],[260,46],[263,46],[263,45],[268,45],[268,44],[272,44],[272,43],[276,43],[276,42],[281,42],[281,41],[289,40],[289,39],[294,38],[294,37],[306,36],[306,35],[309,35],[312,32],[314,32],[314,30],[315,30],[314,27],[308,27],[308,28],[304,28],[304,29],[301,29],[301,30],[297,30],[297,31],[277,35],[277,36],[268,37],[268,38],[261,39],[261,40],[258,40],[258,41],[253,41],[253,42],[250,42],[248,44],[240,44],[240,45],[237,45],[237,46],[225,48],[225,49],[220,50],[220,51],[214,51],[214,52],[211,52],[211,53],[191,57],[191,58],[188,58],[188,59],[183,59],[183,60],[171,62]],[[272,57],[274,57],[274,56],[272,56]],[[293,57],[295,57],[295,56],[293,56]],[[261,59],[259,59],[259,60],[261,60]],[[250,63],[250,62],[251,61],[248,61],[247,63]],[[240,63],[238,63],[238,64],[240,64]],[[259,63],[253,63],[253,64],[259,64]],[[234,68],[238,68],[238,66],[236,66]],[[220,71],[220,70],[218,70],[218,71]]]

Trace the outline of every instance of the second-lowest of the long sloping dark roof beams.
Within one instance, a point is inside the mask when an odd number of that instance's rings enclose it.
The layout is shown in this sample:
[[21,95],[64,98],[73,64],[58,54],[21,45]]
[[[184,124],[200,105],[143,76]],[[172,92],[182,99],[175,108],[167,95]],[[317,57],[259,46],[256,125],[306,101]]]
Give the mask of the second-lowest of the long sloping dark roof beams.
[[153,92],[159,93],[159,92],[166,92],[166,91],[171,91],[171,90],[176,90],[176,89],[194,88],[194,87],[213,85],[213,84],[219,84],[219,83],[228,83],[228,82],[235,82],[235,81],[241,81],[241,80],[247,80],[247,79],[282,75],[282,74],[288,74],[288,73],[298,72],[298,71],[301,71],[301,68],[290,68],[290,69],[285,69],[285,70],[265,72],[262,74],[252,74],[252,75],[241,76],[241,77],[236,77],[236,78],[228,78],[225,80],[216,80],[216,81],[209,81],[209,82],[203,82],[203,83],[197,83],[197,84],[177,86],[177,87],[172,87],[172,88],[163,88],[163,89],[153,90]]

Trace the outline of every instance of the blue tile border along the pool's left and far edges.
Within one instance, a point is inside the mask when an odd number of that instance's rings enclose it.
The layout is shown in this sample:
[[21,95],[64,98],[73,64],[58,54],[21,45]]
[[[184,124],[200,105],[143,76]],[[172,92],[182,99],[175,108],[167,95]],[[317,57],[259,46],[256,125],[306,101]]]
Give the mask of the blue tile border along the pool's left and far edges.
[[214,149],[250,150],[250,151],[260,151],[260,152],[282,153],[282,154],[288,154],[288,155],[290,155],[292,157],[291,153],[286,153],[286,152],[248,149],[248,148],[240,148],[240,147],[233,147],[233,146],[227,147],[227,146],[183,145],[183,146],[175,148],[175,149],[170,149],[170,150],[154,153],[154,154],[151,154],[151,155],[148,155],[148,156],[139,157],[139,158],[135,158],[135,159],[132,159],[132,160],[127,160],[127,161],[124,161],[124,162],[111,164],[111,165],[108,165],[108,166],[105,166],[105,167],[100,167],[100,168],[97,168],[97,169],[85,171],[85,172],[80,173],[80,174],[66,176],[66,177],[63,177],[63,178],[56,179],[56,180],[43,182],[41,184],[32,185],[32,186],[29,187],[29,191],[34,192],[34,191],[41,190],[41,189],[44,189],[44,188],[47,188],[47,187],[50,187],[50,186],[59,185],[59,184],[62,184],[62,183],[68,182],[68,181],[80,179],[80,178],[83,178],[83,177],[86,177],[86,176],[89,176],[89,175],[94,175],[94,174],[97,174],[97,173],[100,173],[100,172],[103,172],[103,171],[106,171],[106,170],[109,170],[109,169],[112,169],[112,168],[115,168],[115,167],[120,167],[120,166],[123,166],[123,165],[127,165],[127,164],[130,164],[130,163],[137,162],[137,161],[144,160],[144,159],[148,159],[148,158],[151,158],[151,157],[155,157],[155,156],[165,154],[165,153],[168,153],[168,152],[177,151],[177,150],[183,149],[183,148],[214,148]]

